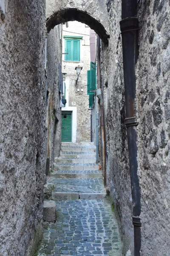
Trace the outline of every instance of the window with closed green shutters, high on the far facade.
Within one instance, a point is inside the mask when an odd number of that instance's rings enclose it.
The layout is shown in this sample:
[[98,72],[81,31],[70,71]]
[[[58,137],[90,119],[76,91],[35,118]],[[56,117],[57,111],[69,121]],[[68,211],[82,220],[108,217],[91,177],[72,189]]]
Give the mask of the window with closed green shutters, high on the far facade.
[[80,61],[80,39],[82,37],[65,38],[65,61]]

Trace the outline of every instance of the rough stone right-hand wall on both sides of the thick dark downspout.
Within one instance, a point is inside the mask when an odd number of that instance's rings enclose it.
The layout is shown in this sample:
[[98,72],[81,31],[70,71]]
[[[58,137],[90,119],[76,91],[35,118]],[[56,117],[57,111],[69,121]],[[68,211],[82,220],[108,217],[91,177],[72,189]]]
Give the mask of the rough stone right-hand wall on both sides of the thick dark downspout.
[[[117,209],[123,253],[133,255],[132,198],[124,125],[125,95],[121,3],[107,1],[108,47],[103,46],[107,185]],[[138,176],[141,189],[142,256],[167,256],[170,249],[170,3],[138,1],[139,58],[136,65]],[[115,209],[115,210],[116,210]]]

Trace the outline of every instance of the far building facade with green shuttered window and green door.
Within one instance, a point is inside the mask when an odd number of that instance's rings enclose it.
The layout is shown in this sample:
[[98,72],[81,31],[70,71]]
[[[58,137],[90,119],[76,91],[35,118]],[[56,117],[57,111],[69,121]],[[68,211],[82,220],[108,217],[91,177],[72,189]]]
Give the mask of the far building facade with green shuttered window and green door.
[[[66,73],[62,108],[62,141],[91,140],[91,112],[88,110],[87,70],[90,67],[90,28],[83,23],[63,25],[62,73]],[[76,67],[82,67],[79,78]],[[78,79],[77,79],[78,78]]]

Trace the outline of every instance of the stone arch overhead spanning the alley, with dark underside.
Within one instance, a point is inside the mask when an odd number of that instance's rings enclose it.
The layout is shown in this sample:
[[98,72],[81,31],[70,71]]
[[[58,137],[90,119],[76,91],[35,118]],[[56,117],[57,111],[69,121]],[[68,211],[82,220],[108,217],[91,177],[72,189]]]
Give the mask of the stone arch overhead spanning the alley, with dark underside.
[[103,0],[47,0],[46,26],[49,32],[54,26],[67,21],[80,21],[94,29],[108,44],[108,12]]

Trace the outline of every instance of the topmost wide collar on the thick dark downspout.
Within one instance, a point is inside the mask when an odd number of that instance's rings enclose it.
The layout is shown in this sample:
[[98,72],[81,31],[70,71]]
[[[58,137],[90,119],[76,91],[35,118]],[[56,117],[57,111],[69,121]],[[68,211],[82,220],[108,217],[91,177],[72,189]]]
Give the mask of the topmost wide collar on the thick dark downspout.
[[138,18],[136,17],[125,18],[120,21],[120,30],[122,33],[131,31],[131,30],[138,30],[138,29],[139,29],[139,22],[138,22]]

